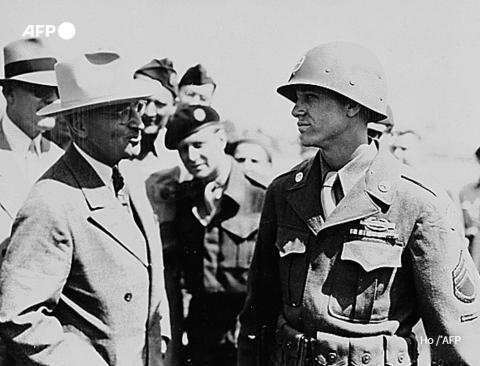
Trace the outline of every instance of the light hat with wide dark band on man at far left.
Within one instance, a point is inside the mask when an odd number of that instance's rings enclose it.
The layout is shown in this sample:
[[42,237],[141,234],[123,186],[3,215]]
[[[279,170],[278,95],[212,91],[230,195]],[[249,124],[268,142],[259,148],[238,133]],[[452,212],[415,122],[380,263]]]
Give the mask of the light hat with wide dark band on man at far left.
[[22,38],[3,48],[4,77],[0,85],[11,80],[56,86],[53,57],[50,45],[42,38]]

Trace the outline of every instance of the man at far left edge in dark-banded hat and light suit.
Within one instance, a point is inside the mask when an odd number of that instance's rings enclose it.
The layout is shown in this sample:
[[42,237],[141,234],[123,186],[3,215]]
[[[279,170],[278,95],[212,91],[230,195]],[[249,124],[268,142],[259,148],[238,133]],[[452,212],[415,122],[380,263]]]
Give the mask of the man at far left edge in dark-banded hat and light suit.
[[6,45],[0,86],[6,110],[0,117],[0,261],[13,219],[33,183],[63,154],[42,136],[53,118],[36,112],[58,99],[54,65],[57,60],[40,38]]

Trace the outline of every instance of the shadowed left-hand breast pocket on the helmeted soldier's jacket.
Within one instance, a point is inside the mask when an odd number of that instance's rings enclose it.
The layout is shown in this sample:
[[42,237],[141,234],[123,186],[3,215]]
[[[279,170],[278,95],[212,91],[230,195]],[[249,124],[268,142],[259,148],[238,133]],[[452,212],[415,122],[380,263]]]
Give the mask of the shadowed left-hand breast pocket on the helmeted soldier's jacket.
[[308,231],[278,227],[275,245],[280,254],[280,281],[283,300],[290,306],[299,306],[307,277]]

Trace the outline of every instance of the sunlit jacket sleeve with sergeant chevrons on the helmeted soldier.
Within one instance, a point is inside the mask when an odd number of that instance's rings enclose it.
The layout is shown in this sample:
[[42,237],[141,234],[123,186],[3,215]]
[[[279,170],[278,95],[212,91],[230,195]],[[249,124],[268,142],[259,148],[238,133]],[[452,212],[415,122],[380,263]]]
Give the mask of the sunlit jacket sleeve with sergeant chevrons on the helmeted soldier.
[[446,196],[425,204],[409,247],[433,358],[454,365],[478,365],[480,278],[453,202]]

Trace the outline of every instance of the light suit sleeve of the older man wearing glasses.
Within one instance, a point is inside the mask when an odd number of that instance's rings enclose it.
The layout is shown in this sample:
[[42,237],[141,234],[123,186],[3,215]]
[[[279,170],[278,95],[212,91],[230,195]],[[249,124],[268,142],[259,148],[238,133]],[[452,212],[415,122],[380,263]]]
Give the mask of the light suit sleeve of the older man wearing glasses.
[[43,199],[41,187],[15,220],[0,271],[0,334],[22,365],[107,366],[84,335],[69,332],[54,316],[73,243],[66,213]]

